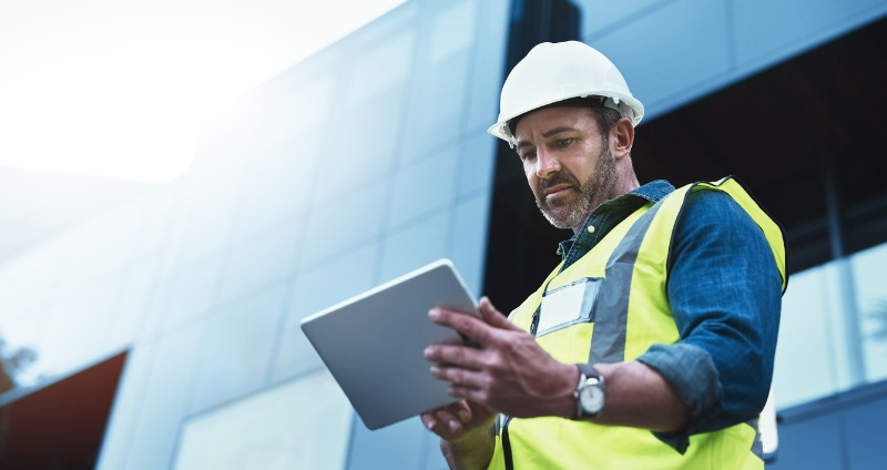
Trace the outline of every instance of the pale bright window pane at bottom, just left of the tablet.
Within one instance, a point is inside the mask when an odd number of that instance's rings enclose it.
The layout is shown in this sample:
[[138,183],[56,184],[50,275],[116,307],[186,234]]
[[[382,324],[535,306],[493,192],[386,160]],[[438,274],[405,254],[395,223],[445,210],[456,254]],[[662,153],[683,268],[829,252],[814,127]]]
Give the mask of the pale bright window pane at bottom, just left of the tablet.
[[177,470],[340,469],[351,407],[324,370],[191,419]]

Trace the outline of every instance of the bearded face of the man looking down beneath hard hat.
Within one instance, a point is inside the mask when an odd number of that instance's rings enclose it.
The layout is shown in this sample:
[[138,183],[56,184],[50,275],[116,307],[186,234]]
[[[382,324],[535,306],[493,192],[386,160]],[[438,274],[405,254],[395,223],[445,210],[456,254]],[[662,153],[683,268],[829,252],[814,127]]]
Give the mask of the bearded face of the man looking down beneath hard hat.
[[538,110],[518,122],[514,134],[536,204],[555,227],[579,231],[594,207],[614,196],[615,161],[590,110]]

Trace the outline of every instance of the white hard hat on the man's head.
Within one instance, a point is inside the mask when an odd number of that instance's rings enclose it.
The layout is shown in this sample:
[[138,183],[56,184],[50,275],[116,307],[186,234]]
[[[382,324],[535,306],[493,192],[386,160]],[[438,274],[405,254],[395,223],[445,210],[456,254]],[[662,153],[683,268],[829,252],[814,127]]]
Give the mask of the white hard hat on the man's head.
[[537,44],[508,74],[499,99],[499,119],[487,130],[514,146],[508,122],[523,113],[571,98],[601,96],[638,125],[644,105],[632,96],[613,62],[578,41]]

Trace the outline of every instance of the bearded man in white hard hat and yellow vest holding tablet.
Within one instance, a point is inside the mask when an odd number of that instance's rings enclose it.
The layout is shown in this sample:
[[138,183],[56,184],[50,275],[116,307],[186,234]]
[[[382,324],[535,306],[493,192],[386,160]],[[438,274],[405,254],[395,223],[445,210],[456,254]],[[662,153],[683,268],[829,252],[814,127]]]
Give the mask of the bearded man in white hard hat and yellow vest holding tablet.
[[580,42],[537,45],[506,80],[490,133],[573,237],[508,319],[487,298],[480,318],[429,313],[472,339],[426,349],[462,399],[421,417],[450,467],[764,467],[782,233],[735,180],[640,185],[642,116],[619,70]]

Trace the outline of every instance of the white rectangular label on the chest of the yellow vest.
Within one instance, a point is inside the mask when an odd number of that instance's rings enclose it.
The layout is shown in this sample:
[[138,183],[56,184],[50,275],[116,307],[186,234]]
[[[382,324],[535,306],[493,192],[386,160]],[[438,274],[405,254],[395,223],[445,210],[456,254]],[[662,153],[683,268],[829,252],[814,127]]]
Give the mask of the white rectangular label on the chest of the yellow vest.
[[592,319],[591,311],[602,280],[600,277],[587,277],[547,292],[539,309],[537,336]]

